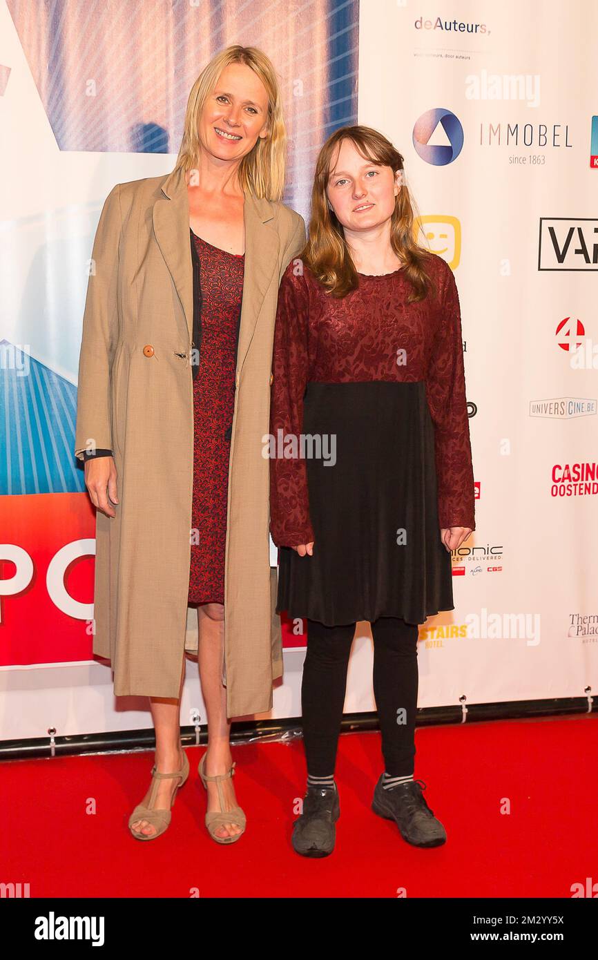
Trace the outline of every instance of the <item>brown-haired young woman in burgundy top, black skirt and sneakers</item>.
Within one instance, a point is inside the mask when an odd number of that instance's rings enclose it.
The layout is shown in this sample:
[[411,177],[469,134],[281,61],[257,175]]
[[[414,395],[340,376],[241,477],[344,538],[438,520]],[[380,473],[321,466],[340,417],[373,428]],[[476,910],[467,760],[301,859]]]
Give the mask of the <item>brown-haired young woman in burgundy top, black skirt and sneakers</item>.
[[413,228],[393,144],[369,127],[333,133],[309,240],[280,284],[271,405],[272,435],[322,444],[271,461],[277,609],[307,618],[307,793],[293,831],[304,856],[334,848],[358,620],[371,623],[385,761],[372,808],[415,846],[446,839],[414,780],[418,624],[454,609],[450,551],[474,529],[473,473],[455,279]]

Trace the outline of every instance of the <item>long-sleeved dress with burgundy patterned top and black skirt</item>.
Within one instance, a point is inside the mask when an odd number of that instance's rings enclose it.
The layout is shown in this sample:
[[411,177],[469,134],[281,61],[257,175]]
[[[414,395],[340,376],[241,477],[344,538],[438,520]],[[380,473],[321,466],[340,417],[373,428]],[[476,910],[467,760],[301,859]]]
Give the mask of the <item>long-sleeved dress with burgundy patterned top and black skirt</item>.
[[[270,427],[277,612],[332,626],[454,610],[440,530],[475,529],[473,471],[457,287],[442,257],[428,270],[436,293],[415,303],[401,269],[360,274],[343,299],[300,261],[282,277]],[[291,549],[312,540],[311,557]]]

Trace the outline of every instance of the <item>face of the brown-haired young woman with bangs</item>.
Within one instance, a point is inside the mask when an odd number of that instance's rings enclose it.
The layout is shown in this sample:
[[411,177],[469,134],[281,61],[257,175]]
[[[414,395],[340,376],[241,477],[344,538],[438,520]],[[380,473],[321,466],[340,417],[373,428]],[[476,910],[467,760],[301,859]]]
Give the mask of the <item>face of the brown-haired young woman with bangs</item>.
[[341,141],[333,157],[326,196],[346,230],[377,228],[395,211],[400,171],[362,156],[352,140]]

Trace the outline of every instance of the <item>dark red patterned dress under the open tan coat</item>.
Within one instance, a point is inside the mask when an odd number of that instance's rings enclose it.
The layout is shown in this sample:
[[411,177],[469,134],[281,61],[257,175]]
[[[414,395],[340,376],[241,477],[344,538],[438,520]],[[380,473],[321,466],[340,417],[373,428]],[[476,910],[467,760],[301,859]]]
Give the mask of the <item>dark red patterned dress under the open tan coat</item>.
[[[201,287],[199,368],[193,380],[193,505],[190,604],[225,602],[228,456],[245,254],[213,247],[191,231]],[[194,341],[195,342],[195,341]],[[198,344],[196,343],[196,348]]]

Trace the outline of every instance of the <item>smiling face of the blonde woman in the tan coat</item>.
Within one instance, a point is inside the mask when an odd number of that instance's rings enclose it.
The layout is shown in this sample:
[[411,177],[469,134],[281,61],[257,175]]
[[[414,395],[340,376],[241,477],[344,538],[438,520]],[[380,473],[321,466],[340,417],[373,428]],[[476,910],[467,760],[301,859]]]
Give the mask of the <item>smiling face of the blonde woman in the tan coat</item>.
[[268,135],[268,93],[245,63],[228,63],[203,104],[199,135],[203,150],[220,160],[249,154]]

